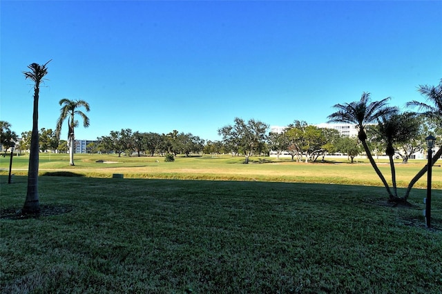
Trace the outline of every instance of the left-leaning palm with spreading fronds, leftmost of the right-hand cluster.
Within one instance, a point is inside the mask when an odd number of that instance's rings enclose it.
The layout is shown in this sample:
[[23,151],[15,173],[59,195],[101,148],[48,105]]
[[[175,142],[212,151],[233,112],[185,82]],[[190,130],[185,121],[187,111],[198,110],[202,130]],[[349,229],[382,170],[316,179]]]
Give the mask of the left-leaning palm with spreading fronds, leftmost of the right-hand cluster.
[[371,101],[370,93],[363,92],[359,101],[353,101],[349,104],[335,104],[333,107],[337,108],[338,111],[332,113],[332,115],[329,115],[328,119],[329,122],[356,124],[356,127],[358,128],[358,139],[359,141],[361,141],[361,144],[365,150],[365,154],[370,161],[370,164],[372,164],[374,170],[376,171],[376,174],[383,182],[385,188],[387,189],[387,193],[390,196],[390,199],[394,199],[394,195],[390,190],[390,186],[388,186],[385,177],[376,165],[372,153],[368,148],[367,133],[365,133],[365,126],[367,124],[376,121],[376,119],[378,119],[379,117],[394,114],[398,111],[395,107],[387,106],[388,100],[390,100],[390,97],[382,99],[381,101]]

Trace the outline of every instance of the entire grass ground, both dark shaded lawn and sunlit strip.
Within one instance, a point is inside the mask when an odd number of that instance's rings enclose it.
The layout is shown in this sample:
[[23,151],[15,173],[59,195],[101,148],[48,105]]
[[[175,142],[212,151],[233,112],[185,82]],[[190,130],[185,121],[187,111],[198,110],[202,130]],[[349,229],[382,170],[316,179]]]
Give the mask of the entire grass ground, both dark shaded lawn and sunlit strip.
[[[392,207],[367,164],[83,155],[71,167],[57,156],[41,157],[41,174],[85,177],[40,177],[50,215],[14,217],[26,157],[12,184],[1,171],[1,293],[441,291],[440,168],[427,229],[425,189]],[[401,181],[422,166],[398,165]]]

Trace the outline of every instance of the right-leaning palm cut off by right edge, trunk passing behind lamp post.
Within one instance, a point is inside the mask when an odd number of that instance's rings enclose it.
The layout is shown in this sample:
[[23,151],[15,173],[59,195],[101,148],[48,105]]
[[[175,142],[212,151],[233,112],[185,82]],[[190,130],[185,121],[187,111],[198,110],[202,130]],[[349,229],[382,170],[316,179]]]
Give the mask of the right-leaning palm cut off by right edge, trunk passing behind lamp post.
[[[409,107],[416,107],[418,111],[421,111],[421,114],[426,117],[432,117],[436,119],[442,119],[442,79],[439,82],[438,86],[428,86],[428,85],[420,85],[417,89],[423,96],[427,98],[427,103],[421,101],[410,101],[407,103]],[[434,104],[434,105],[431,105]],[[434,165],[442,155],[442,148],[439,148],[437,152],[433,155],[432,165]],[[424,166],[419,172],[413,177],[408,184],[407,190],[405,191],[404,199],[410,195],[410,191],[412,190],[414,184],[416,184],[419,179],[427,173],[428,166]]]

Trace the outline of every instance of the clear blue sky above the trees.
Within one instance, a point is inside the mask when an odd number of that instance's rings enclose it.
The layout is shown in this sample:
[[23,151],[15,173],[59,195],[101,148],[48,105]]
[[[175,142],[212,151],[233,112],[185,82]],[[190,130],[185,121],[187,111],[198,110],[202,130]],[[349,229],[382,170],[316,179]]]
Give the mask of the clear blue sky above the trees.
[[55,128],[61,98],[84,99],[77,139],[319,124],[364,91],[403,107],[442,78],[442,1],[2,0],[0,13],[0,119],[19,135],[32,128],[22,71],[50,59],[39,128]]

